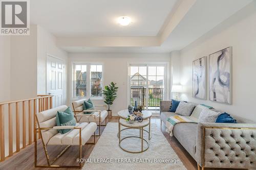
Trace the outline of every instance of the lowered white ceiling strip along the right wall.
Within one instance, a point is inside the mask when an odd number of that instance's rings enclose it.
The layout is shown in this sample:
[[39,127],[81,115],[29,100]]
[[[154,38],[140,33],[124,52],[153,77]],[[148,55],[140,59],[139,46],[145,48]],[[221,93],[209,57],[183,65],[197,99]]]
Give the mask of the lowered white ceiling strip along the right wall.
[[250,2],[252,0],[197,0],[161,44],[161,49],[182,50]]

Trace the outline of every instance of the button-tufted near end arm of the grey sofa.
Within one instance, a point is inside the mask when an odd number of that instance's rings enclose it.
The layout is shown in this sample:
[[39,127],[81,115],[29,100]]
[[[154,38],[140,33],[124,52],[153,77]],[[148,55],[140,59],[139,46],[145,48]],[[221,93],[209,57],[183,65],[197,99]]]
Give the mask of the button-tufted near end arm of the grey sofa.
[[198,123],[198,169],[256,168],[256,124]]

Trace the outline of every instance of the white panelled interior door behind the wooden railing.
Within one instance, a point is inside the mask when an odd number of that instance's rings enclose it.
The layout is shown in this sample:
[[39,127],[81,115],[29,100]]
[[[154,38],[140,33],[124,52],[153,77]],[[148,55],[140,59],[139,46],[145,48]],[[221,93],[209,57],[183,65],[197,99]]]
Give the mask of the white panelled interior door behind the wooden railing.
[[47,94],[53,95],[53,107],[64,104],[64,61],[47,56]]

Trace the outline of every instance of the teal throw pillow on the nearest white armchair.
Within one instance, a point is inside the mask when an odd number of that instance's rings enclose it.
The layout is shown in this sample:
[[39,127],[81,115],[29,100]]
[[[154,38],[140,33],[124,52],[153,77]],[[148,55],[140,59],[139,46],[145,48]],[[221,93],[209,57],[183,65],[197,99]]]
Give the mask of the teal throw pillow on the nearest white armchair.
[[[65,111],[58,111],[56,115],[56,124],[57,126],[75,126],[76,120],[74,118],[73,111],[68,107]],[[58,129],[58,132],[65,134],[71,129]]]

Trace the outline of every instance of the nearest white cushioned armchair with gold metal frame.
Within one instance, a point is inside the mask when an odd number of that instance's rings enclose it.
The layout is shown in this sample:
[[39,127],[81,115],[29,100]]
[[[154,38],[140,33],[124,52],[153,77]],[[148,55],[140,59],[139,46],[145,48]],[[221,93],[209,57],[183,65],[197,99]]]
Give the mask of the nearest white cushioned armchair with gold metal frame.
[[[79,158],[82,158],[82,145],[88,143],[87,141],[94,136],[97,129],[96,123],[76,123],[75,126],[56,126],[57,111],[65,111],[67,106],[59,106],[50,110],[42,111],[35,115],[37,127],[34,131],[35,140],[35,167],[64,167],[64,168],[81,168],[81,163],[78,166],[71,165],[53,165],[53,163],[67,151],[71,145],[79,146]],[[74,115],[75,116],[75,115]],[[75,116],[76,117],[76,116]],[[58,133],[58,129],[71,129],[65,134]],[[42,146],[45,151],[48,165],[37,164],[37,133],[39,133],[42,141]],[[67,145],[67,147],[60,152],[60,154],[50,160],[47,145]],[[75,155],[74,155],[75,156]]]

